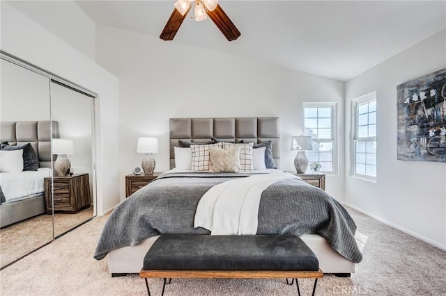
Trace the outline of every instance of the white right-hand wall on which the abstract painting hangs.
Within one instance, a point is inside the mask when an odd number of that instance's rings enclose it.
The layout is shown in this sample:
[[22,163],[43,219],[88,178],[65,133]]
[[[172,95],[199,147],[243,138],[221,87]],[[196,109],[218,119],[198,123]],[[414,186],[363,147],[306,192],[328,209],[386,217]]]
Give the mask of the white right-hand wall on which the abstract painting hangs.
[[[376,90],[376,183],[346,174],[346,202],[414,236],[446,249],[446,163],[397,161],[397,85],[446,67],[446,30],[346,82],[351,99]],[[345,119],[346,133],[351,120]],[[350,148],[348,138],[346,147]],[[351,150],[348,150],[348,156]],[[346,167],[350,167],[350,157]],[[349,173],[347,171],[347,173]]]

